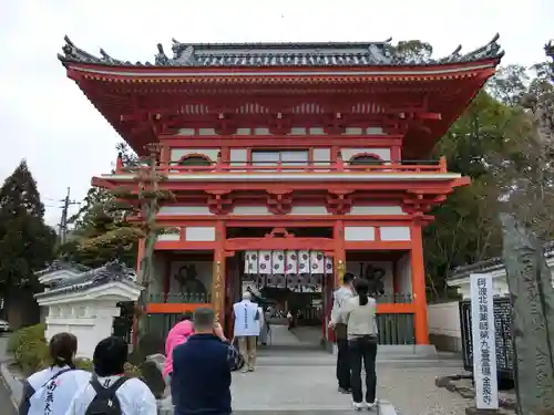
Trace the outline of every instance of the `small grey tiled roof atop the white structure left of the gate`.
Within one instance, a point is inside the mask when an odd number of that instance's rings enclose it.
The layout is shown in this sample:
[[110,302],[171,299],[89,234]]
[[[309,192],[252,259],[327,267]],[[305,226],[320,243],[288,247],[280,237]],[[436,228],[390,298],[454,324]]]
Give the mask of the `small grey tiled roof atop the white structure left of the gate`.
[[70,280],[59,280],[51,290],[35,294],[35,298],[58,295],[73,291],[84,291],[109,282],[122,281],[135,283],[136,274],[133,269],[125,267],[120,261],[107,262],[105,266],[83,272]]

